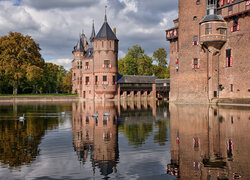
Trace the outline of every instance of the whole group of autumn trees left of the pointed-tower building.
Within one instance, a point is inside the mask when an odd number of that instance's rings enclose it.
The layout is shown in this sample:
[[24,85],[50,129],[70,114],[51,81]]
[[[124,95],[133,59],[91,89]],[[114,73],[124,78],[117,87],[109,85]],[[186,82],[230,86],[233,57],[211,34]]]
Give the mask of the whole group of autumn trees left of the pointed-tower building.
[[45,63],[30,36],[10,32],[0,38],[0,94],[70,93],[66,75],[63,66]]

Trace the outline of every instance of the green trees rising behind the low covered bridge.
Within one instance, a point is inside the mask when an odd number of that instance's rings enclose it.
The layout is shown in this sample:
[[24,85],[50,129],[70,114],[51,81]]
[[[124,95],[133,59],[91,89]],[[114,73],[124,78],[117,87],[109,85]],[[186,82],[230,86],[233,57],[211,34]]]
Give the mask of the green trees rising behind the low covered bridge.
[[118,61],[118,72],[123,75],[155,75],[157,78],[169,78],[167,67],[167,52],[159,48],[153,53],[153,58],[144,53],[139,45],[128,48],[124,58]]

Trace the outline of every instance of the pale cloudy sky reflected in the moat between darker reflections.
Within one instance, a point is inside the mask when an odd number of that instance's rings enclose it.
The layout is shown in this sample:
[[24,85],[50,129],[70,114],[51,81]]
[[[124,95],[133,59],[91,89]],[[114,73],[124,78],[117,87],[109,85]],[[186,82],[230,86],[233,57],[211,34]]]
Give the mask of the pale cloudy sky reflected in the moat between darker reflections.
[[[95,167],[94,174],[90,155],[88,155],[84,164],[78,160],[72,144],[74,139],[74,134],[72,134],[72,113],[71,111],[66,111],[65,117],[63,117],[60,114],[60,112],[63,112],[62,109],[65,108],[63,106],[69,108],[70,104],[62,105],[59,111],[57,108],[54,108],[54,112],[49,113],[41,111],[36,113],[31,108],[32,106],[26,108],[27,118],[34,118],[32,121],[36,121],[37,118],[46,119],[48,122],[51,119],[58,119],[58,124],[54,127],[55,129],[46,130],[45,135],[41,137],[41,143],[39,144],[40,152],[33,162],[12,169],[8,169],[6,168],[7,165],[1,164],[1,177],[5,177],[4,179],[93,179],[93,176],[96,179],[103,178],[98,167]],[[30,114],[29,108],[32,109]],[[148,111],[152,110],[149,109]],[[22,112],[18,112],[18,114],[21,115]],[[9,116],[10,119],[15,117],[10,114],[6,115],[3,112],[1,115]],[[3,118],[3,116],[1,117]],[[167,121],[167,118],[164,121]],[[124,132],[118,131],[119,158],[116,164],[117,171],[109,174],[108,177],[113,179],[133,179],[166,174],[167,164],[170,162],[170,143],[166,142],[164,146],[159,146],[154,140],[154,135],[158,128],[154,123],[149,123],[153,127],[152,131],[145,138],[145,142],[137,147],[130,145]],[[166,126],[168,125],[166,124]],[[169,136],[169,132],[167,133],[167,136]]]

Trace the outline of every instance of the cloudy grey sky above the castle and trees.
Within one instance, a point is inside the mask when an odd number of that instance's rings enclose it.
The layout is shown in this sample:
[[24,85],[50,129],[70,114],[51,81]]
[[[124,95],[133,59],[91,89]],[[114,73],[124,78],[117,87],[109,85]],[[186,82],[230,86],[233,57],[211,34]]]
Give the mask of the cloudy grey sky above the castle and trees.
[[89,38],[93,20],[98,33],[105,6],[110,27],[117,29],[119,58],[137,44],[150,56],[159,48],[169,51],[165,30],[178,17],[177,0],[0,0],[0,36],[30,35],[47,62],[70,69],[79,33]]

